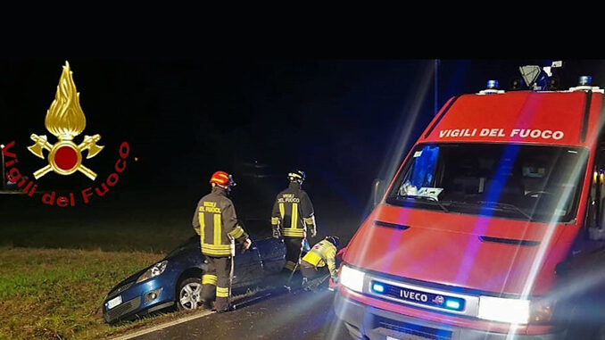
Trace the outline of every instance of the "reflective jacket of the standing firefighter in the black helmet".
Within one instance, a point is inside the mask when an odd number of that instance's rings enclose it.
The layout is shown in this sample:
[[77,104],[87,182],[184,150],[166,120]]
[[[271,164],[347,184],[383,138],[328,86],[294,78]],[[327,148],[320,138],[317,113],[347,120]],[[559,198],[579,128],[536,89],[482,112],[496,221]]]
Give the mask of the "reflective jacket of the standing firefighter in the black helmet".
[[273,235],[304,238],[307,229],[315,234],[315,216],[309,195],[301,185],[290,182],[286,190],[276,197],[271,213]]

